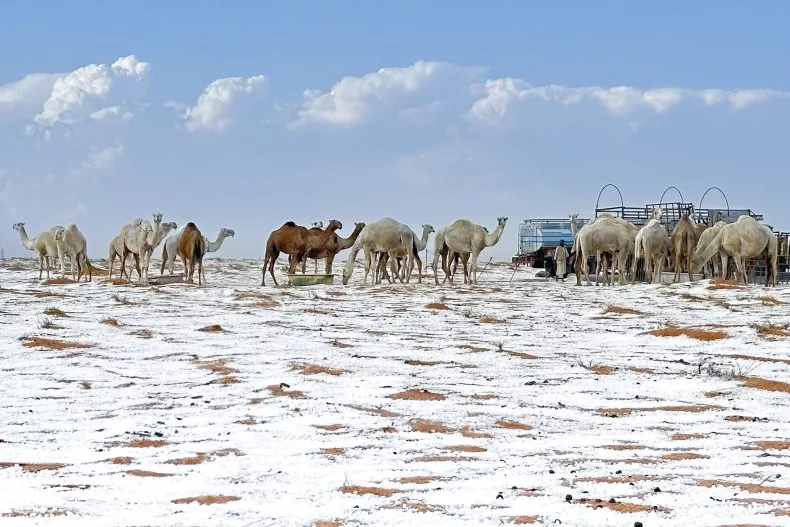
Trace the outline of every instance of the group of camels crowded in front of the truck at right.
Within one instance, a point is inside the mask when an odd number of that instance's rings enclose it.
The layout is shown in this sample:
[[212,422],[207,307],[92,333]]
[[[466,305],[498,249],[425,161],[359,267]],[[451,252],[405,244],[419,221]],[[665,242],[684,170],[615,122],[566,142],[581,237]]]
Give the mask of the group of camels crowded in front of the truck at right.
[[[761,259],[766,262],[765,285],[776,285],[778,244],[771,227],[761,225],[751,216],[740,216],[733,223],[718,222],[711,227],[696,223],[689,214],[684,214],[667,234],[662,225],[662,214],[658,207],[653,209],[649,221],[640,229],[633,223],[611,214],[602,214],[576,230],[577,214],[571,215],[573,249],[576,257],[576,285],[581,285],[584,274],[590,285],[588,274],[589,257],[597,256],[602,266],[604,282],[609,281],[609,262],[618,270],[618,282],[625,283],[630,275],[635,282],[636,265],[645,262],[645,278],[652,283],[660,277],[665,262],[674,266],[674,280],[680,279],[683,267],[692,281],[693,275],[703,267],[708,276],[729,278],[729,261],[732,258],[738,279],[746,283],[746,261]],[[630,265],[629,265],[630,263]],[[597,271],[597,269],[596,269]],[[655,271],[655,273],[654,273]],[[598,273],[595,283],[598,285]]]

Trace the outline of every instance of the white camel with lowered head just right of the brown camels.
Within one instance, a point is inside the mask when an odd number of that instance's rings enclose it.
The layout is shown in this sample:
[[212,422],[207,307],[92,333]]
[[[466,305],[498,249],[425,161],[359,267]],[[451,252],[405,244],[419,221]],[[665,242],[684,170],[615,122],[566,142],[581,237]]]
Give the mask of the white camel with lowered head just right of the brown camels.
[[[343,269],[343,285],[348,284],[348,281],[351,279],[351,274],[354,272],[354,262],[360,250],[364,250],[365,253],[365,278],[362,281],[363,285],[367,284],[368,273],[371,270],[375,253],[389,253],[389,257],[394,261],[400,250],[406,253],[404,267],[406,267],[406,282],[409,282],[411,272],[414,269],[415,254],[414,233],[408,225],[404,225],[392,218],[382,218],[365,225],[365,228],[357,236],[354,245],[351,246],[346,267]],[[375,272],[376,268],[374,266],[374,283]],[[401,282],[403,282],[402,278]]]

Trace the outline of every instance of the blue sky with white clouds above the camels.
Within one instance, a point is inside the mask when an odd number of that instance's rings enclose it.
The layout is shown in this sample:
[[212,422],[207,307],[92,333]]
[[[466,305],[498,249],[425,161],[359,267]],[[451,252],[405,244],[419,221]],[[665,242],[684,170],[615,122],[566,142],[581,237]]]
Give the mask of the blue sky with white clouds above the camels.
[[[262,257],[288,220],[526,218],[720,187],[790,230],[790,3],[9,2],[0,248],[135,218]],[[674,190],[664,201],[678,201]],[[600,206],[620,198],[607,188]],[[710,192],[705,208],[725,207]],[[432,239],[429,242],[432,247]],[[161,251],[156,251],[158,255]],[[212,255],[214,256],[214,255]]]

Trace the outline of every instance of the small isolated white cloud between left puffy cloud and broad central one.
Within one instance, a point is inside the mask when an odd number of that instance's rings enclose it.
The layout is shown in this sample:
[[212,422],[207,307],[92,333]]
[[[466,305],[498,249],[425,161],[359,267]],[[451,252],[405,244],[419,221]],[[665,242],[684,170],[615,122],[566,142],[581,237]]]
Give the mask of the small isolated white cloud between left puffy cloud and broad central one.
[[[224,131],[233,122],[229,113],[238,96],[258,93],[266,89],[267,85],[268,80],[264,75],[215,80],[206,87],[195,106],[186,109],[184,117],[187,120],[187,130]],[[170,107],[177,106],[170,103]]]

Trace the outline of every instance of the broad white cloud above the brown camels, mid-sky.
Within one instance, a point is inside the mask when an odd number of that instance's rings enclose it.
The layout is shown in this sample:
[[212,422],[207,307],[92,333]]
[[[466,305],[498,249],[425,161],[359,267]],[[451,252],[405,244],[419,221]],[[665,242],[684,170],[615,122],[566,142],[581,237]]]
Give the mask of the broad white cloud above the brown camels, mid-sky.
[[327,93],[306,90],[297,119],[291,126],[308,123],[354,126],[365,119],[376,103],[390,103],[400,96],[413,94],[437,79],[458,74],[468,79],[481,71],[420,60],[404,68],[382,68],[363,77],[344,77]]

